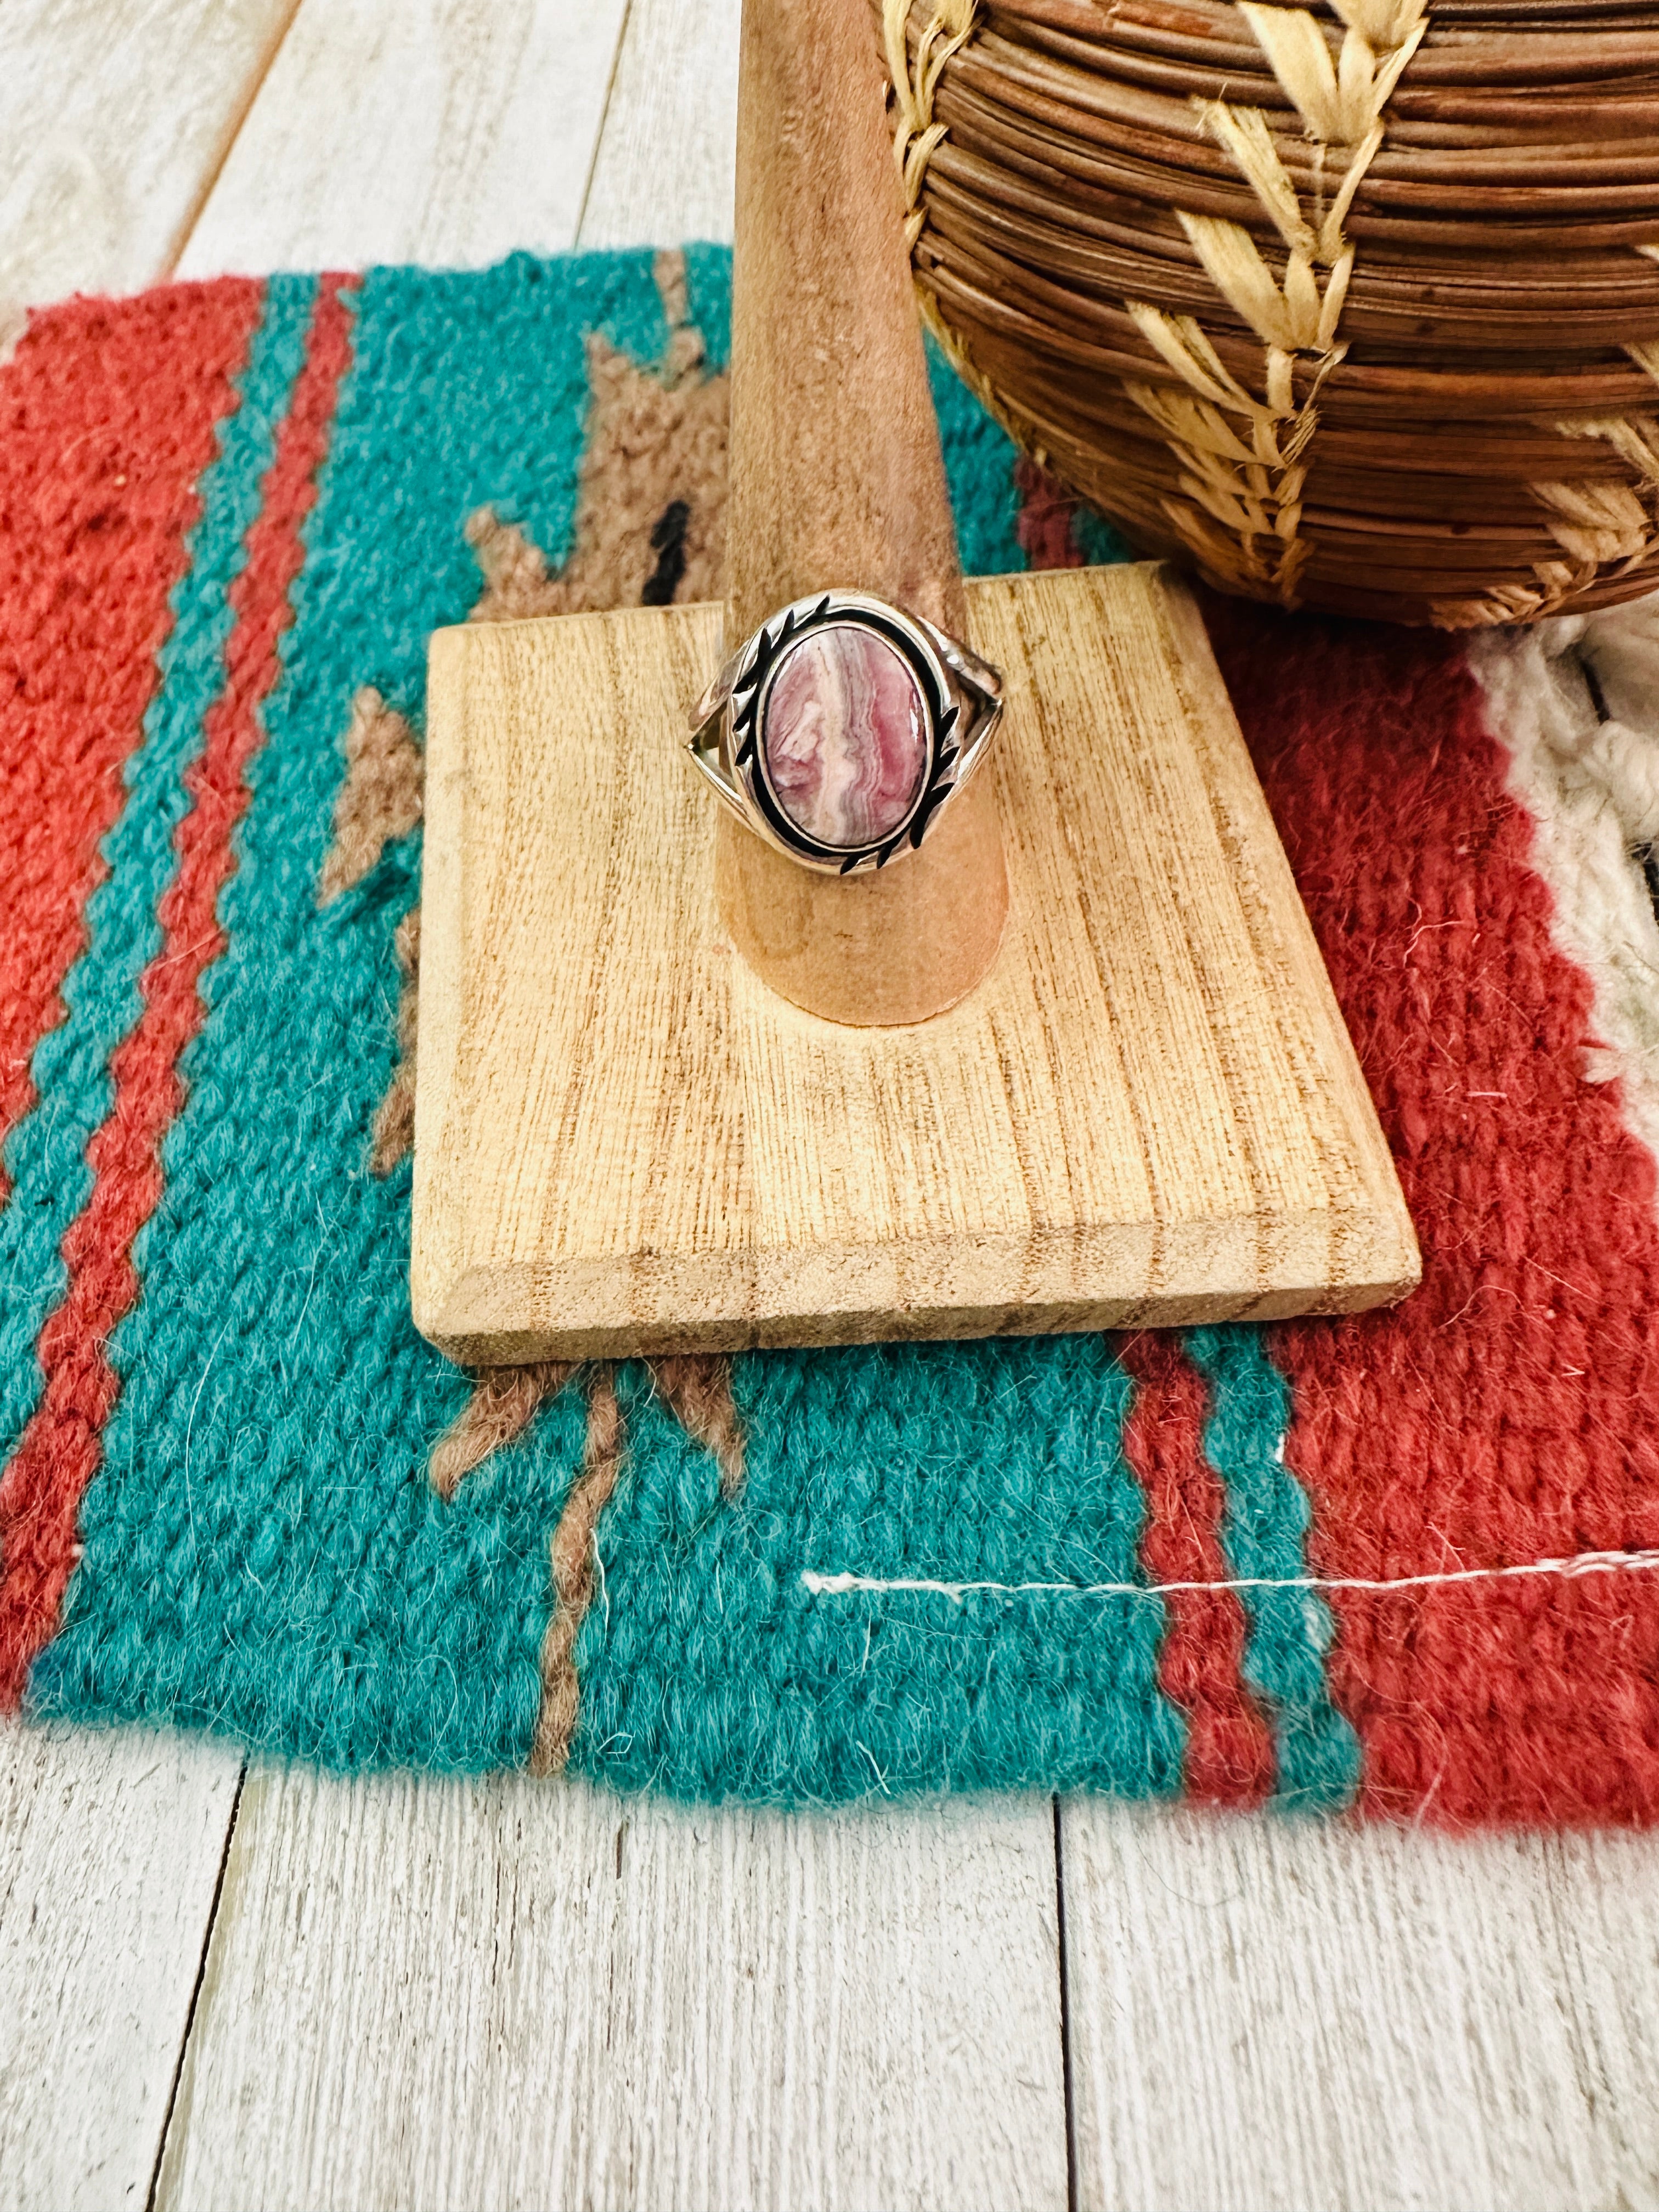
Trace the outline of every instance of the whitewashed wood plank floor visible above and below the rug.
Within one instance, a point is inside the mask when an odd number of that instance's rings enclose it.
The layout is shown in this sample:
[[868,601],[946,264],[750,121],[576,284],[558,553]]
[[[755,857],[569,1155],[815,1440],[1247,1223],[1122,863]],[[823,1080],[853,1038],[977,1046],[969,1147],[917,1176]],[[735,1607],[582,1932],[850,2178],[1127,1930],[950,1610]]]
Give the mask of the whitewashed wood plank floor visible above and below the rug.
[[[7,0],[0,345],[170,272],[730,234],[737,11]],[[1641,2208],[1657,2093],[1659,1840],[0,1728],[0,2212]]]

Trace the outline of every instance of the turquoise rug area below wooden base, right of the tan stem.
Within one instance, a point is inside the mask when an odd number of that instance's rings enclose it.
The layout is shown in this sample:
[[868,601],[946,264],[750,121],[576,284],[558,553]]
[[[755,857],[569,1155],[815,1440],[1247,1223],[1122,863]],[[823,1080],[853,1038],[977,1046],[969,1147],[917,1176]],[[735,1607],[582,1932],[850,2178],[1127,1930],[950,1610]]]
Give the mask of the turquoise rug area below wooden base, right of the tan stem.
[[577,1770],[785,1803],[1181,1787],[1161,1604],[801,1582],[1139,1582],[1130,1383],[1102,1336],[748,1356],[732,1504],[639,1369],[622,1396],[630,1451],[575,1646]]

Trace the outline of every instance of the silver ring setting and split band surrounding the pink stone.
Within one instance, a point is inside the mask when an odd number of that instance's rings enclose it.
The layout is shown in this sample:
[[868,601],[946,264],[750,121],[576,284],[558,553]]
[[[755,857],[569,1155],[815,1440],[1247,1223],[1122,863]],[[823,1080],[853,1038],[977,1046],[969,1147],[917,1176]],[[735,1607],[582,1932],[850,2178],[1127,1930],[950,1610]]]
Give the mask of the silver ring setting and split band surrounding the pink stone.
[[[927,759],[905,818],[874,845],[821,845],[783,812],[765,763],[765,708],[787,653],[814,630],[867,628],[891,646],[922,697]],[[1002,677],[967,646],[865,591],[821,591],[779,608],[726,661],[692,708],[688,752],[737,818],[801,867],[852,876],[887,867],[927,836],[984,759],[1002,714]]]

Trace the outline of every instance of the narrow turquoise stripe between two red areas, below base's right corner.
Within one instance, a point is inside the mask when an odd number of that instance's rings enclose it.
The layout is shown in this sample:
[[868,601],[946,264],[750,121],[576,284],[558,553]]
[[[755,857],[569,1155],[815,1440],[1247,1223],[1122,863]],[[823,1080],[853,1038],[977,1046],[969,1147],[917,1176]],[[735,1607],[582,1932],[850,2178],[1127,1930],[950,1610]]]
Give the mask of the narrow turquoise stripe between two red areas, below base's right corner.
[[[1232,1575],[1290,1582],[1307,1573],[1307,1493],[1285,1464],[1290,1383],[1267,1358],[1261,1329],[1192,1329],[1192,1363],[1210,1383],[1203,1431],[1210,1467],[1228,1491],[1221,1548]],[[1281,1805],[1334,1809],[1360,1783],[1360,1743],[1325,1679],[1332,1613],[1318,1590],[1243,1590],[1250,1619],[1243,1679],[1272,1717]]]

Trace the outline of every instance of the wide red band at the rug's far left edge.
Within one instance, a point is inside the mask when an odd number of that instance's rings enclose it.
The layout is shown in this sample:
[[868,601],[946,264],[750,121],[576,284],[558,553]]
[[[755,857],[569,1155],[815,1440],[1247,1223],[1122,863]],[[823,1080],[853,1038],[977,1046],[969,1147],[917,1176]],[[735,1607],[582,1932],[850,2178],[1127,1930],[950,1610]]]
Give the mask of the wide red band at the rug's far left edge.
[[0,1144],[64,1018],[259,301],[243,279],[71,301],[0,369]]

